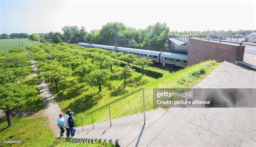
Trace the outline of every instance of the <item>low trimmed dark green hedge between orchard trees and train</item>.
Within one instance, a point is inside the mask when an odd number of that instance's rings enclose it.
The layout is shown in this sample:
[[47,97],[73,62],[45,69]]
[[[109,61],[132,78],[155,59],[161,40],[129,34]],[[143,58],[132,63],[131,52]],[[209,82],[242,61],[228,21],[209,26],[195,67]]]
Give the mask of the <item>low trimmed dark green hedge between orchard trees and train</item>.
[[[125,67],[126,64],[127,64],[126,62],[121,62],[120,65],[122,67]],[[137,72],[142,72],[142,68],[140,68],[138,65],[131,65],[130,64],[130,67],[132,69],[135,69]],[[153,78],[160,78],[160,77],[163,77],[164,73],[156,71],[156,70],[151,70],[151,69],[144,68],[144,75],[147,75],[147,76],[153,77]]]

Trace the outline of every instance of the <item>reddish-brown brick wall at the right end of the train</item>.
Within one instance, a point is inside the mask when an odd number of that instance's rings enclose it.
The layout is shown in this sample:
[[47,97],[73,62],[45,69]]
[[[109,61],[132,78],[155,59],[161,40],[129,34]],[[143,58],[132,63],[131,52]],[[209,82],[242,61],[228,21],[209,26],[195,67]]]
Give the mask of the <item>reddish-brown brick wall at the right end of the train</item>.
[[207,40],[189,39],[188,43],[188,65],[196,64],[206,60],[217,62],[244,60],[245,46],[239,44],[211,42]]

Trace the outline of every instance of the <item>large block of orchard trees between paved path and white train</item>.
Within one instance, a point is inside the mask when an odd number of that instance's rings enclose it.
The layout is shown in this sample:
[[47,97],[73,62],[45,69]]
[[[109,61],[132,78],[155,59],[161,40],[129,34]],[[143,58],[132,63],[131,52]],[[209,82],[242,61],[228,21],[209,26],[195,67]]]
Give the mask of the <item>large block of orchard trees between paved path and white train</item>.
[[76,75],[91,86],[108,85],[110,77],[114,75],[113,67],[122,67],[120,77],[132,76],[134,69],[130,64],[138,65],[144,75],[144,69],[152,64],[146,57],[137,58],[133,54],[116,53],[99,48],[84,48],[68,43],[44,44],[27,48],[31,57],[37,61],[37,74],[41,81],[55,84],[59,92],[59,82],[69,75]]

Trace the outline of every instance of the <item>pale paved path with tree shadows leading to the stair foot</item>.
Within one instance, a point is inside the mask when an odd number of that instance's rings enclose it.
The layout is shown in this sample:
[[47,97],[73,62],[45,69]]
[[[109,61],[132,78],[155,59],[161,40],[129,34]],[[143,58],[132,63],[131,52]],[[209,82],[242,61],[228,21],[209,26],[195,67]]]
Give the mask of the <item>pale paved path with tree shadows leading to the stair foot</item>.
[[[32,70],[36,71],[36,61],[31,60],[30,63],[32,64]],[[34,74],[36,76],[36,74]],[[43,115],[48,116],[50,125],[55,132],[55,134],[59,134],[59,128],[57,126],[57,118],[60,113],[62,113],[61,109],[59,108],[57,102],[55,101],[53,94],[49,90],[48,85],[43,82],[38,85],[39,92],[41,94],[45,109]]]

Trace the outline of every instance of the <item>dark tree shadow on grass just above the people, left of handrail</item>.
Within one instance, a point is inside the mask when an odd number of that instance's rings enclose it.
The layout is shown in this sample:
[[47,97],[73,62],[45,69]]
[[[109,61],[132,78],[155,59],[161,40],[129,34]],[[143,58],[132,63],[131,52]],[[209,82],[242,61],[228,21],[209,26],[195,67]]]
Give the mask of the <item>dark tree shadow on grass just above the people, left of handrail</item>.
[[72,109],[75,113],[82,113],[91,109],[102,98],[103,96],[99,92],[95,94],[87,94],[71,102],[67,108]]

